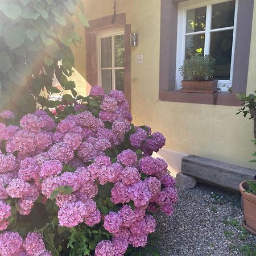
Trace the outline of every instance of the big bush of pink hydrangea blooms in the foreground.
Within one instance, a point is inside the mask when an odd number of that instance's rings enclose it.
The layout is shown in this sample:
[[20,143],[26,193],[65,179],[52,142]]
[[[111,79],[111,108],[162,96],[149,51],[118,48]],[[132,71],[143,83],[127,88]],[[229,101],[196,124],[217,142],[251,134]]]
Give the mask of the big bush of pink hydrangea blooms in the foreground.
[[151,156],[163,135],[131,124],[122,92],[76,100],[16,126],[0,113],[0,255],[121,256],[146,246],[151,213],[174,211],[175,180]]

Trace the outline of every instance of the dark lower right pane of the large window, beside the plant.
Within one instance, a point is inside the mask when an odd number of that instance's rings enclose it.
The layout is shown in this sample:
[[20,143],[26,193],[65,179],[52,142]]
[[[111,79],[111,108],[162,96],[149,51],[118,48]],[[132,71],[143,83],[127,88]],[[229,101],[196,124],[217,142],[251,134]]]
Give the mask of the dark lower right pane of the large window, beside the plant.
[[216,59],[214,78],[229,80],[232,56],[233,30],[210,34],[210,55]]

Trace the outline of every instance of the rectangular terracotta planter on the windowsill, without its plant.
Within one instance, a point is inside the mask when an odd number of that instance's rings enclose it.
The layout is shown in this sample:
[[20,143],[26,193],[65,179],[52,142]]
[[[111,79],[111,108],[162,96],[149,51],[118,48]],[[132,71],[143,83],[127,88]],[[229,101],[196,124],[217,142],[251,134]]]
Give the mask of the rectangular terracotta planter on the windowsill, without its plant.
[[181,81],[182,89],[180,92],[192,92],[192,93],[214,93],[217,92],[218,80],[207,81]]

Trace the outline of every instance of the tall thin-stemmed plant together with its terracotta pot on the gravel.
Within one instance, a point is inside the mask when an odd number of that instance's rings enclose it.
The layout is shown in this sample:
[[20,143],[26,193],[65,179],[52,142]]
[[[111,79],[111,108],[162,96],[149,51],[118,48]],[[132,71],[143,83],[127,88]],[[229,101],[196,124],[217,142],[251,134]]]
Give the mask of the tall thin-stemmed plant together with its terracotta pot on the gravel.
[[[256,94],[256,91],[255,91]],[[249,94],[246,96],[244,93],[238,94],[238,98],[243,101],[243,106],[238,110],[237,114],[242,113],[244,117],[250,114],[249,119],[254,121],[254,144],[256,144],[256,95]],[[256,151],[253,154],[256,156]],[[256,159],[250,162],[256,162]],[[251,233],[256,234],[256,180],[242,181],[239,185],[242,195],[243,212],[245,220],[243,226]]]

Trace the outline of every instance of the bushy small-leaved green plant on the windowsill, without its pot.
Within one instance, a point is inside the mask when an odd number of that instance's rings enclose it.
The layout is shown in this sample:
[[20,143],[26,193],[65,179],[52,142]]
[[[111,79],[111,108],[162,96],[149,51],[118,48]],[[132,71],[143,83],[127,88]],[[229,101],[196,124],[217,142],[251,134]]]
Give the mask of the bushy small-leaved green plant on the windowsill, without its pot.
[[191,59],[184,60],[180,67],[180,75],[184,80],[205,81],[213,77],[216,60],[210,55],[197,54]]

